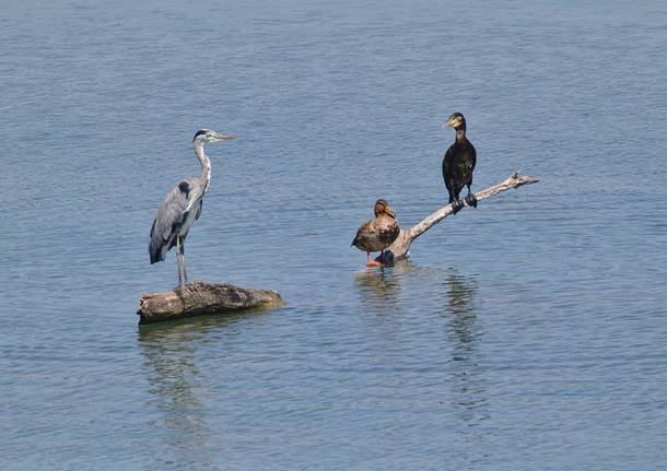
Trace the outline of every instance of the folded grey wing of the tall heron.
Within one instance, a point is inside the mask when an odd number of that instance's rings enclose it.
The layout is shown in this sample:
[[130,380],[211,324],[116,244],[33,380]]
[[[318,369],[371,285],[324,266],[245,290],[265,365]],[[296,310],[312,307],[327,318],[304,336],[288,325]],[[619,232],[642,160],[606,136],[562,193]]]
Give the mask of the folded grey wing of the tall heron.
[[184,178],[164,197],[151,227],[151,263],[164,260],[167,250],[174,246],[178,227],[186,217],[189,193],[190,182]]

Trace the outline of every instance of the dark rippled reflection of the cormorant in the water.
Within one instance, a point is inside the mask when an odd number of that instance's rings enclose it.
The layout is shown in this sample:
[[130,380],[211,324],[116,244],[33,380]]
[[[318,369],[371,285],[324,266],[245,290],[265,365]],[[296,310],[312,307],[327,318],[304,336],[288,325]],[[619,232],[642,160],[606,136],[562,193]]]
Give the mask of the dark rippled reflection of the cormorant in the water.
[[466,425],[479,425],[488,419],[484,368],[479,362],[479,345],[484,335],[475,313],[477,282],[472,276],[450,272],[445,283],[447,309],[445,329],[452,355],[452,405]]

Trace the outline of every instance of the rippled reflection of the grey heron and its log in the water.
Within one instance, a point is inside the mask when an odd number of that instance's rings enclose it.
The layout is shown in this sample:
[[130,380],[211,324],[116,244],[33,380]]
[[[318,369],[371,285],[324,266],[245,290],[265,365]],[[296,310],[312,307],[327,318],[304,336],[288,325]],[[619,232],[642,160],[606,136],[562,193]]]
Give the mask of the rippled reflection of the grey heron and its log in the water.
[[[200,384],[198,346],[212,329],[229,325],[243,314],[231,317],[201,317],[176,325],[142,326],[139,348],[144,356],[142,369],[149,393],[163,420],[152,428],[167,428],[171,456],[156,457],[164,467],[178,469],[214,468],[220,464],[222,444],[209,426],[209,416]],[[152,401],[153,402],[153,401]],[[152,404],[150,404],[152,405]]]

